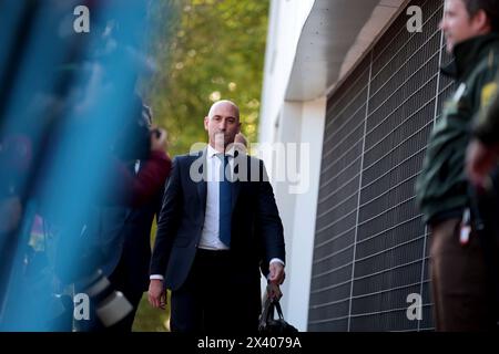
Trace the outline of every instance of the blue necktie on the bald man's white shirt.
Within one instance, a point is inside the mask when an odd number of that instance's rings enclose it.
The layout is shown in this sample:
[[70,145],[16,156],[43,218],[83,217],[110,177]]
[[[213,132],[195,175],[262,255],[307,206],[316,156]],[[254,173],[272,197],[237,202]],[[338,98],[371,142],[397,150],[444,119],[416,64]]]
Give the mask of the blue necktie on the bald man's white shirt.
[[231,246],[231,223],[232,223],[232,188],[228,176],[225,176],[226,167],[228,165],[227,155],[217,155],[223,164],[221,165],[220,184],[220,218],[218,218],[218,238],[227,247]]

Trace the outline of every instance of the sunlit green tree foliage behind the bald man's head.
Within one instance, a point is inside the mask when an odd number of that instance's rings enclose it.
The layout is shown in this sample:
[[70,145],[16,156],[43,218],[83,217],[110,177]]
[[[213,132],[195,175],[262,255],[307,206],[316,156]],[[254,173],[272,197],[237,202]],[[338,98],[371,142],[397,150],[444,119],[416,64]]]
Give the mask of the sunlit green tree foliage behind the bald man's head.
[[159,0],[150,8],[157,71],[144,85],[172,155],[206,142],[203,117],[220,98],[241,108],[254,142],[262,90],[268,1]]

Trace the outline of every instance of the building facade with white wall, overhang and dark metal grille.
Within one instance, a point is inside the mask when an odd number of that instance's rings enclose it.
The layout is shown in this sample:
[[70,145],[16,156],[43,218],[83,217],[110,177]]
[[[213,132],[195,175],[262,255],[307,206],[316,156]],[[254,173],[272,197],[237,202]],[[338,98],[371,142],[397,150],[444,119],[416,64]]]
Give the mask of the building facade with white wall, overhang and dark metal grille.
[[[272,1],[259,142],[307,146],[307,188],[273,180],[282,302],[301,331],[432,329],[414,187],[452,90],[439,72],[442,11],[442,0]],[[288,159],[277,150],[271,176]]]

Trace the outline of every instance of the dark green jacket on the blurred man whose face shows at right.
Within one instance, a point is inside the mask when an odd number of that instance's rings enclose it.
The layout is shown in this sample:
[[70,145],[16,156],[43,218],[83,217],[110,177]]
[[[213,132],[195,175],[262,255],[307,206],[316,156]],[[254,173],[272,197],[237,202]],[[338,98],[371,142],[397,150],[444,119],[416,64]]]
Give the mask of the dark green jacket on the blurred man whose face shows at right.
[[442,73],[456,80],[457,90],[434,126],[416,183],[416,200],[425,222],[460,217],[468,205],[466,148],[483,88],[493,82],[499,67],[499,34],[464,41],[452,54],[455,60]]

